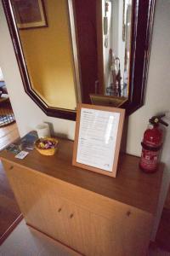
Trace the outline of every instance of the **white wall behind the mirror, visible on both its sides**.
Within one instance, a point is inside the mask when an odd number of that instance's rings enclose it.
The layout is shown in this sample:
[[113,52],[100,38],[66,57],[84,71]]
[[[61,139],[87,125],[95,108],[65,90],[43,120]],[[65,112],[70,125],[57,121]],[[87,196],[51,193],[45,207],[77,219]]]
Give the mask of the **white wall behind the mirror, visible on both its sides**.
[[[127,132],[127,153],[140,155],[140,142],[148,119],[160,112],[170,109],[170,0],[156,1],[156,15],[150,55],[150,70],[146,94],[146,102],[143,108],[129,117]],[[66,134],[74,138],[75,122],[64,119],[47,117],[37,105],[26,95],[20,71],[14,55],[13,45],[8,32],[8,26],[3,14],[2,3],[0,3],[0,67],[8,87],[14,114],[19,126],[20,135],[24,136],[35,125],[42,121],[53,123],[54,131]],[[167,137],[163,147],[161,160],[166,163],[167,169],[163,180],[161,191],[161,204],[165,199],[167,183],[169,181],[169,144],[170,127],[167,129]],[[135,193],[135,191],[134,191]],[[160,208],[161,209],[161,208]],[[158,212],[158,217],[160,212]]]

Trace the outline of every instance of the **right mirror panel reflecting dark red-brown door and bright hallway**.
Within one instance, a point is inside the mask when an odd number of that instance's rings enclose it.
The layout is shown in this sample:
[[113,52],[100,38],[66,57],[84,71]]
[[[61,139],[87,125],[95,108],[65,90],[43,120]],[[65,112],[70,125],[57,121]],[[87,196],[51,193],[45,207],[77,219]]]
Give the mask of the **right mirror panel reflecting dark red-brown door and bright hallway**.
[[74,1],[84,103],[120,107],[127,101],[132,4]]

